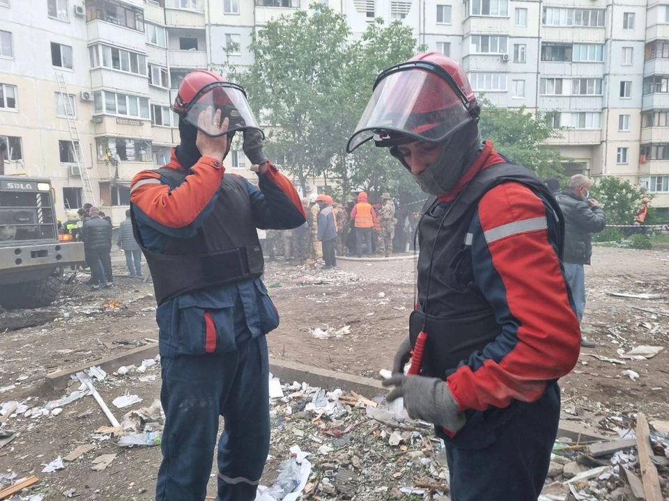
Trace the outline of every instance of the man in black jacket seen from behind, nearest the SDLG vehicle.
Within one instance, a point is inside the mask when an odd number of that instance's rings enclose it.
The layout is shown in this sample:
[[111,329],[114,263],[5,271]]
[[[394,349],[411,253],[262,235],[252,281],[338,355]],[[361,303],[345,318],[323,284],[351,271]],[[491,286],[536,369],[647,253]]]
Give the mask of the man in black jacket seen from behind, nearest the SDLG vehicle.
[[[99,289],[100,284],[112,287],[112,225],[100,218],[98,207],[91,207],[89,216],[82,226],[82,241],[91,268],[91,289]],[[102,275],[98,260],[102,263]]]

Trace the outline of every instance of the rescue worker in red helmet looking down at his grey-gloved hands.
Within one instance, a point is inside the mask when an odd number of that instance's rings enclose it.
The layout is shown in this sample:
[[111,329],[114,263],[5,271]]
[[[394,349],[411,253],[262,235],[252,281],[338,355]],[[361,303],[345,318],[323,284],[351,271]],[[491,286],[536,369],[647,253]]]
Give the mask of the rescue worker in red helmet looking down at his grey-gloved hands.
[[417,304],[387,399],[403,397],[410,416],[435,424],[454,500],[535,501],[560,420],[557,379],[578,360],[580,330],[560,207],[481,140],[478,118],[461,65],[421,54],[378,76],[348,151],[374,139],[431,195],[417,230]]

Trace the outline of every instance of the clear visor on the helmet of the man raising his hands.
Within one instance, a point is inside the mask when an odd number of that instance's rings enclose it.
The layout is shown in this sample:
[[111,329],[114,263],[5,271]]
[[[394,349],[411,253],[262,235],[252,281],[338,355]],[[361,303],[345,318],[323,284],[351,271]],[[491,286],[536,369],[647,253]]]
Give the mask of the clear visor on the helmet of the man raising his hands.
[[[220,114],[217,112],[220,111]],[[215,82],[199,91],[181,113],[183,120],[211,137],[245,129],[259,129],[246,95],[231,82]],[[226,129],[223,120],[229,119]]]

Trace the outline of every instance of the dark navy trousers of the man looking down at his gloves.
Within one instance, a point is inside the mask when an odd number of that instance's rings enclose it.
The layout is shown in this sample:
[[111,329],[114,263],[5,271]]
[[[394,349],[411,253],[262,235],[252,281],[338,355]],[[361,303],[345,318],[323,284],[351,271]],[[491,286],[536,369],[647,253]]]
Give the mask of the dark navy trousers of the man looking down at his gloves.
[[539,400],[516,402],[485,447],[446,440],[453,501],[537,501],[560,422],[560,388],[548,384]]

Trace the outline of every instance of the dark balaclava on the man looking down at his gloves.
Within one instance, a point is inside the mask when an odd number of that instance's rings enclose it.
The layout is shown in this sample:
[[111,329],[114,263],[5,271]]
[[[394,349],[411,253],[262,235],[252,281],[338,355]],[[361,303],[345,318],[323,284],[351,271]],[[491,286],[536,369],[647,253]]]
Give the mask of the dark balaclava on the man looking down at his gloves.
[[[434,164],[413,177],[425,193],[435,196],[448,193],[472,166],[483,146],[477,120],[472,120],[447,138],[444,149]],[[397,146],[390,148],[390,154],[411,170]]]

